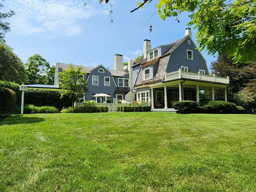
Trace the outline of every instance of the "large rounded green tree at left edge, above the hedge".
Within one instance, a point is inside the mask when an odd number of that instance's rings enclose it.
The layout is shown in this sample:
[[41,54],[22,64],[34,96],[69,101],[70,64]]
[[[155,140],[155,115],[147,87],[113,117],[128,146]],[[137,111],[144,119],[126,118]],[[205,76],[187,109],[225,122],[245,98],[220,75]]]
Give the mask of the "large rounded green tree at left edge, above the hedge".
[[24,83],[26,71],[20,58],[11,47],[0,40],[0,80]]

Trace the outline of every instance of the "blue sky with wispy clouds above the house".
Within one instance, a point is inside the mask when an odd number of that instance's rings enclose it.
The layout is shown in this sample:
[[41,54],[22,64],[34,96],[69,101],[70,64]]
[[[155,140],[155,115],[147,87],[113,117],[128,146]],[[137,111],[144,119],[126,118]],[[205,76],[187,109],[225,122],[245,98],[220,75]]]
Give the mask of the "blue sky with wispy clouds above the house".
[[[113,69],[116,53],[123,54],[127,61],[142,54],[144,39],[150,39],[153,47],[171,43],[184,36],[189,21],[185,13],[179,15],[180,23],[174,18],[163,21],[158,14],[150,19],[154,1],[130,13],[139,0],[112,0],[111,23],[108,5],[99,5],[98,0],[84,2],[85,7],[83,0],[4,1],[5,10],[16,13],[9,19],[11,32],[6,34],[6,43],[23,62],[38,53],[51,65],[71,62]],[[192,29],[192,33],[196,41],[196,30]],[[206,52],[203,54],[208,64],[215,60]]]

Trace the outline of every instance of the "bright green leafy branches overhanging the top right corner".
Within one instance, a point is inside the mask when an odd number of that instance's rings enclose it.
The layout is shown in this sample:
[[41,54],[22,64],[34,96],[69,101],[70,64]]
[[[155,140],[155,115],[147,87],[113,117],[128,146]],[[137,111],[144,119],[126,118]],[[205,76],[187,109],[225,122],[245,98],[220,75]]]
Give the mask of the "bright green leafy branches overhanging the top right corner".
[[[131,12],[152,2],[143,0]],[[174,17],[178,22],[179,14],[188,12],[187,24],[197,28],[200,50],[228,54],[236,63],[256,61],[255,0],[159,0],[157,10],[163,20]]]

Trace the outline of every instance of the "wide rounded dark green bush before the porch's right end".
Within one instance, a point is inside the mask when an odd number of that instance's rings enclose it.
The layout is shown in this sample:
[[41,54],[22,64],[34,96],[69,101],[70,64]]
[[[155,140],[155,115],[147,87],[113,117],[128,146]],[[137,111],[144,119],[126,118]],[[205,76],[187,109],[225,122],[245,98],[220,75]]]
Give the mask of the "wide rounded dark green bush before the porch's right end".
[[236,104],[227,101],[209,101],[211,113],[236,113]]

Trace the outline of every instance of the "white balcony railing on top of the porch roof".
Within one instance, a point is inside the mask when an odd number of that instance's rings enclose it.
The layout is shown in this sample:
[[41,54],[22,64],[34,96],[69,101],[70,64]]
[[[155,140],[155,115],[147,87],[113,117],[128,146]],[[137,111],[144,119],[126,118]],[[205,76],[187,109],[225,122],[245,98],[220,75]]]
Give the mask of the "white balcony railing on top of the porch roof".
[[181,69],[179,69],[178,71],[165,74],[165,81],[181,79],[181,78],[206,81],[206,82],[212,82],[212,83],[229,84],[229,77],[216,77],[215,75],[203,75],[199,72],[192,73],[192,72],[182,71]]

